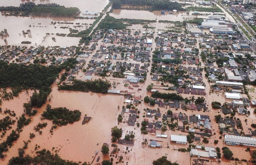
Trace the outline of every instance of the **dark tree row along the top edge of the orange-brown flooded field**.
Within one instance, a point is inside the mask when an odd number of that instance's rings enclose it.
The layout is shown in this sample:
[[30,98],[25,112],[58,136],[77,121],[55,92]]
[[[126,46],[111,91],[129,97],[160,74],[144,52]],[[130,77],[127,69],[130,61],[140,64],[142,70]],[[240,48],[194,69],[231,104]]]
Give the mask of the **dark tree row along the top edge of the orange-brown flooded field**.
[[72,85],[61,85],[58,86],[58,90],[66,90],[66,91],[81,91],[81,92],[95,92],[95,93],[103,93],[107,94],[108,89],[111,87],[111,83],[109,81],[103,81],[101,79],[97,79],[94,81],[81,81],[74,80]]

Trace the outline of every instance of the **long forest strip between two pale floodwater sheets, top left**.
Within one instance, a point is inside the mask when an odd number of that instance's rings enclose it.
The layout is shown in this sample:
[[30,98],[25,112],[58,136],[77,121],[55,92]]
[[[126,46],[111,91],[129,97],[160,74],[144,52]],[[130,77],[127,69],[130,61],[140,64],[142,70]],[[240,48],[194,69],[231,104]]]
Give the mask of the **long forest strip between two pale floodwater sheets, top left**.
[[74,17],[80,10],[76,7],[60,6],[56,3],[38,4],[33,2],[26,2],[20,4],[19,7],[15,6],[2,6],[0,11],[9,12],[8,15],[36,15],[36,16],[52,16],[52,17]]

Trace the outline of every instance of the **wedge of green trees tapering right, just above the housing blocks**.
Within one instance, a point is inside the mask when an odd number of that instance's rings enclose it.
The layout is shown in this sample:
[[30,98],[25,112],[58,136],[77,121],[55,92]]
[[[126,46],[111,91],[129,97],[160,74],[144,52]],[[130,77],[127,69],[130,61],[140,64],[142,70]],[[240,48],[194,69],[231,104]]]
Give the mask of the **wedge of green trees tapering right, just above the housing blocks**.
[[[124,24],[123,22],[128,24]],[[144,23],[152,23],[152,22],[156,22],[156,20],[127,19],[127,18],[116,19],[114,17],[106,15],[106,17],[103,20],[101,20],[101,22],[98,24],[97,29],[123,30],[123,29],[126,29],[126,27],[131,24],[144,24]]]

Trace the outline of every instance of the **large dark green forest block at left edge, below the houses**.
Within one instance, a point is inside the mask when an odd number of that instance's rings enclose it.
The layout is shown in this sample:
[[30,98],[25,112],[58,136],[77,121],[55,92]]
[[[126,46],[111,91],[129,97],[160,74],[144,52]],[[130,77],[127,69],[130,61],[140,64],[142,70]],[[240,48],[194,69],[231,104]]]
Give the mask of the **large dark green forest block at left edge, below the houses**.
[[[75,58],[69,58],[60,66],[42,66],[39,64],[22,65],[0,61],[0,88],[11,87],[15,95],[25,89],[37,89],[30,98],[31,106],[41,107],[51,92],[50,86],[62,69],[74,68]],[[19,74],[17,74],[19,73]]]

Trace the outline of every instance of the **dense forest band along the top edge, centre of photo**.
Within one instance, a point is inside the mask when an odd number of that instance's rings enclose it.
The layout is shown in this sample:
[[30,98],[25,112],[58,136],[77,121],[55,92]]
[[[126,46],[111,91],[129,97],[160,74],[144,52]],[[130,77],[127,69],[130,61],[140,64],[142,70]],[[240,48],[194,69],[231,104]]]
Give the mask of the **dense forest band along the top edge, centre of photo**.
[[[122,9],[122,5],[131,5],[136,8],[149,10],[178,10],[184,11],[181,4],[169,0],[113,0],[113,9]],[[129,8],[126,8],[129,9]]]

